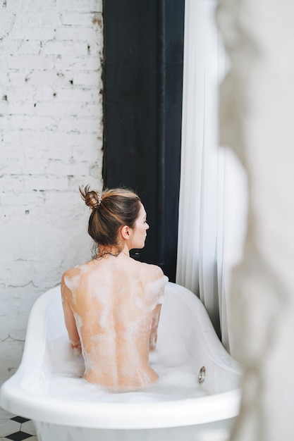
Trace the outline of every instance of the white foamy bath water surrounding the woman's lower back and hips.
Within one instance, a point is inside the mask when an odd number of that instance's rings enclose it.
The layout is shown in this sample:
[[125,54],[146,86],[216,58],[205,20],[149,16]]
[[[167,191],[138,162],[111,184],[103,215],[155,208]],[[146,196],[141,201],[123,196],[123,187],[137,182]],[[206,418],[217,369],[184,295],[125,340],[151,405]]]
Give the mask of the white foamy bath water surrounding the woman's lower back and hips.
[[80,352],[71,349],[68,337],[63,335],[52,342],[54,366],[51,375],[42,387],[34,390],[30,382],[30,392],[59,399],[93,402],[162,402],[209,395],[197,381],[198,366],[193,363],[185,343],[178,339],[172,342],[158,342],[158,349],[149,355],[149,361],[159,374],[157,383],[141,390],[114,393],[82,378],[85,364]]

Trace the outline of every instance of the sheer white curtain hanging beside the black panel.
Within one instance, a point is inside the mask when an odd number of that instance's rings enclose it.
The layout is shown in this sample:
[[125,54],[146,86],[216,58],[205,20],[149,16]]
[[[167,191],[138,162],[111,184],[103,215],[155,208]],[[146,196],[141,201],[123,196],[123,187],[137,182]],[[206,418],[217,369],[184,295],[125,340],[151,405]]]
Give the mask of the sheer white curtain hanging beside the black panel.
[[226,58],[215,0],[185,1],[183,124],[176,282],[202,300],[229,350],[230,269],[242,256],[245,173],[218,146],[219,84]]

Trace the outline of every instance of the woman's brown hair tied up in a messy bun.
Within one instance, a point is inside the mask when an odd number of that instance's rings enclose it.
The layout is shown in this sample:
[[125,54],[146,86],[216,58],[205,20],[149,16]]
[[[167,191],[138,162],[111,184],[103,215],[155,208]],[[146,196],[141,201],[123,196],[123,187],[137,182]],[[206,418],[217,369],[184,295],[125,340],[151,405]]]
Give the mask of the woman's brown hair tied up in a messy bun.
[[[80,188],[85,204],[92,209],[88,233],[99,245],[118,247],[118,230],[123,225],[135,227],[140,211],[140,197],[128,188],[106,189],[102,193]],[[119,254],[118,250],[118,254]]]

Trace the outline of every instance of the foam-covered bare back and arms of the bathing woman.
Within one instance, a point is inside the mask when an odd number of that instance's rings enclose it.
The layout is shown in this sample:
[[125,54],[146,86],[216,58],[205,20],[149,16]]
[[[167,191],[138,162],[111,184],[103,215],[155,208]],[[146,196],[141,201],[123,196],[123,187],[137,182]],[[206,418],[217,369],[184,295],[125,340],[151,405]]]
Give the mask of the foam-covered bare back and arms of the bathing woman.
[[63,274],[66,327],[72,346],[82,349],[86,380],[115,390],[134,390],[157,380],[149,349],[156,344],[166,281],[159,267],[125,254]]

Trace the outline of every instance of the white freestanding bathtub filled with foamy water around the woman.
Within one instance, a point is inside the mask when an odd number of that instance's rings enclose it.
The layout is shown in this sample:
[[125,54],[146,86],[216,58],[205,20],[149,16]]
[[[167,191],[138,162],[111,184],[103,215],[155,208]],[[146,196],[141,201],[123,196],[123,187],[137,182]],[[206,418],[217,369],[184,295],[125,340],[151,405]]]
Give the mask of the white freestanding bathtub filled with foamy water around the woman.
[[42,441],[197,441],[209,440],[212,429],[226,439],[239,411],[240,365],[223,349],[200,300],[171,282],[150,362],[160,379],[140,392],[115,394],[80,378],[58,286],[32,308],[23,359],[1,387],[0,404],[31,418]]

